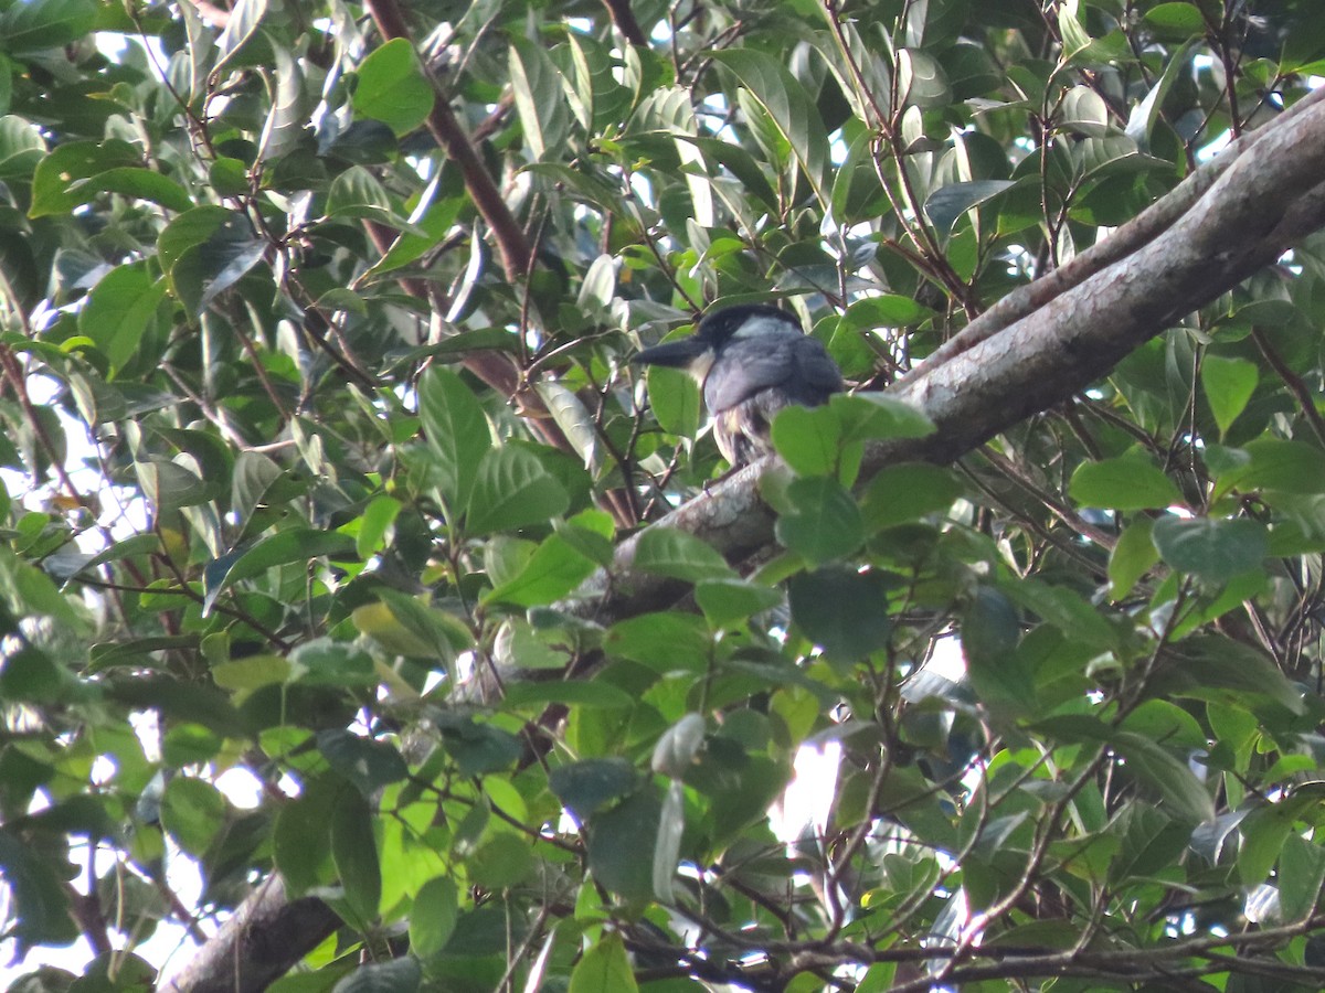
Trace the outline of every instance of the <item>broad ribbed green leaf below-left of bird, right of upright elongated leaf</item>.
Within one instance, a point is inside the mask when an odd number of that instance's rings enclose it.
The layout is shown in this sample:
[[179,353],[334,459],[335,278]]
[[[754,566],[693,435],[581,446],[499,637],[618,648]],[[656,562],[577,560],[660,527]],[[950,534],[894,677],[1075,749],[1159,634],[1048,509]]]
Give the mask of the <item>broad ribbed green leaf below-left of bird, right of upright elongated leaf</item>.
[[546,524],[568,506],[570,495],[538,455],[505,445],[490,449],[478,463],[465,528],[474,535],[517,531]]

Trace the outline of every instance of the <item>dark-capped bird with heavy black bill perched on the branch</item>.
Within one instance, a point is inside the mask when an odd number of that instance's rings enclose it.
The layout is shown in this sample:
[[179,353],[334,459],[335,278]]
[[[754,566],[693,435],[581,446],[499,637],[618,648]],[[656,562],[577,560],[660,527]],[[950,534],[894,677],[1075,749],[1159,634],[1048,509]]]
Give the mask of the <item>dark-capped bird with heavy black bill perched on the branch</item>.
[[772,451],[770,426],[778,410],[819,406],[843,388],[823,343],[790,314],[762,303],[714,310],[689,338],[645,348],[633,361],[694,377],[718,450],[734,470]]

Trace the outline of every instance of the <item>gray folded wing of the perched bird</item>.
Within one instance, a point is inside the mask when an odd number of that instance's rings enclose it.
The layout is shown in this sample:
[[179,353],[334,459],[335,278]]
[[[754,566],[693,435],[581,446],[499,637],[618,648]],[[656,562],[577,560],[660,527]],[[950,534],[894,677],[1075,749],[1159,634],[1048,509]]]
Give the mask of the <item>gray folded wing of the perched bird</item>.
[[759,335],[734,342],[722,364],[723,375],[710,369],[704,383],[704,402],[710,413],[727,410],[765,389],[783,389],[796,404],[816,406],[841,389],[841,373],[818,338],[799,332]]

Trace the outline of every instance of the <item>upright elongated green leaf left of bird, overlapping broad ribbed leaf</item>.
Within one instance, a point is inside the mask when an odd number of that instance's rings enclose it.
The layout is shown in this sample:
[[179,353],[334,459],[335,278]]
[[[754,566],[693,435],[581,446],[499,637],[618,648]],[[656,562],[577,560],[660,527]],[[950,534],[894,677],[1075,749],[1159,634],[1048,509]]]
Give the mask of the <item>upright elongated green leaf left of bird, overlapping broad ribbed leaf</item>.
[[439,486],[452,511],[469,500],[478,463],[492,448],[488,417],[464,380],[432,365],[419,381],[419,417],[437,458]]

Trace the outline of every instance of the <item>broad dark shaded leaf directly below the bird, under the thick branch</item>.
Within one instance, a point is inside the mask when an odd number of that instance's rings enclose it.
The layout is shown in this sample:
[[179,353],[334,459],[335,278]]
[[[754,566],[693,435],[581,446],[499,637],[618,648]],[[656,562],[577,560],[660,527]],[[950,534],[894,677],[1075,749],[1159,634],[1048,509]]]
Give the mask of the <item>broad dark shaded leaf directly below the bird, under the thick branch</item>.
[[787,584],[791,620],[831,659],[856,662],[888,645],[888,584],[877,573],[829,567]]

